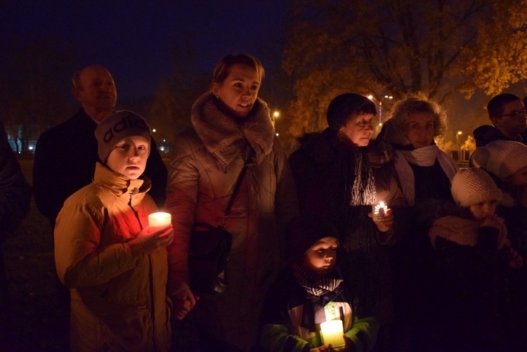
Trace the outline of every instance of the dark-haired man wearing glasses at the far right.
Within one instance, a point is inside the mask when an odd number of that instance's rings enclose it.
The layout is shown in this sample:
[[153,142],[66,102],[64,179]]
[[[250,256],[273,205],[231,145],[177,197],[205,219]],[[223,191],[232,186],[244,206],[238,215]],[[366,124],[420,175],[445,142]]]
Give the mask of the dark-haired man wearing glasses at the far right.
[[494,126],[483,125],[474,130],[476,147],[497,140],[526,143],[521,135],[526,132],[527,116],[520,98],[509,93],[498,94],[488,102],[487,112]]

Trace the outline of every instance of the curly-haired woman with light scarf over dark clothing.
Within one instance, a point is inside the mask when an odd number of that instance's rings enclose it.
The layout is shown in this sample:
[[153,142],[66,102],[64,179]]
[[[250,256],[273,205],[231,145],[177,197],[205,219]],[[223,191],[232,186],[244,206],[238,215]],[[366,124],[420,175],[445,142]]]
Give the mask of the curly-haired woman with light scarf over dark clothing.
[[393,256],[396,325],[399,316],[403,319],[399,326],[405,327],[412,345],[404,348],[419,349],[430,343],[435,297],[428,231],[434,220],[455,206],[450,185],[458,167],[434,143],[446,129],[445,119],[438,104],[420,93],[412,94],[396,103],[377,138],[393,148],[398,183],[411,209],[408,232]]

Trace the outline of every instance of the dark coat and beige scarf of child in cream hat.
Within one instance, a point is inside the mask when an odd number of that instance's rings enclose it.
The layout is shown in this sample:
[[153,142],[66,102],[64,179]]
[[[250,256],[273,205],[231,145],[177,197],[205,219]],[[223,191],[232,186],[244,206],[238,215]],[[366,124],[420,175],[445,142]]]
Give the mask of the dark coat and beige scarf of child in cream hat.
[[500,230],[480,221],[446,216],[430,230],[438,283],[439,326],[444,339],[464,351],[503,351],[509,344],[507,267],[500,249],[506,242]]

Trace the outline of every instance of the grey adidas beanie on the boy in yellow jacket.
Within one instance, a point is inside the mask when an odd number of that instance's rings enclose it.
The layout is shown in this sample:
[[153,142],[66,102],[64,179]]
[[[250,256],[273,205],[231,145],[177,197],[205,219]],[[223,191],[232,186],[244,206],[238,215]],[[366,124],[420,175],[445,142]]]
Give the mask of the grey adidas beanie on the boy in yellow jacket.
[[103,163],[106,163],[110,152],[123,139],[143,137],[150,146],[150,126],[143,117],[128,110],[120,110],[105,117],[95,129],[95,136],[99,158]]

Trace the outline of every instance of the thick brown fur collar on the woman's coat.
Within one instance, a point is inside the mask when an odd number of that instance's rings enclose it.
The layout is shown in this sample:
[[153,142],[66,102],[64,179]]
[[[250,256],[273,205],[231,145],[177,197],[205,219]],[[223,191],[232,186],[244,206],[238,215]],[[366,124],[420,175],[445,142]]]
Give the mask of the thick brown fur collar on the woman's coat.
[[247,139],[254,149],[256,160],[263,159],[273,150],[274,128],[267,104],[257,98],[251,113],[238,122],[212,93],[197,98],[191,113],[191,121],[197,136],[213,155],[241,139]]

